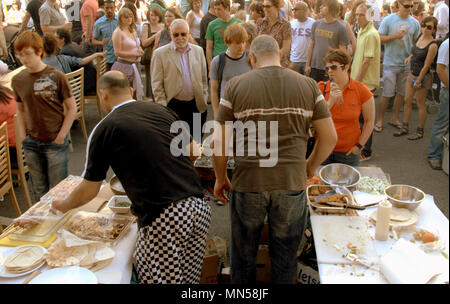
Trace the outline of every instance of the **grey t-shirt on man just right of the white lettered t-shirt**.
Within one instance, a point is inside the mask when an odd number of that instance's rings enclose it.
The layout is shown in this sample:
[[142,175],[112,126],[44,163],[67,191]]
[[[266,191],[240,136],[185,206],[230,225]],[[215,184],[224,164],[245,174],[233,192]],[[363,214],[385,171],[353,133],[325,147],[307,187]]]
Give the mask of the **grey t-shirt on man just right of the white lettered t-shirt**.
[[340,45],[349,43],[347,30],[338,20],[326,23],[320,19],[314,22],[311,28],[311,39],[314,41],[314,49],[311,58],[311,67],[325,70],[322,59],[328,53],[329,48],[337,49]]

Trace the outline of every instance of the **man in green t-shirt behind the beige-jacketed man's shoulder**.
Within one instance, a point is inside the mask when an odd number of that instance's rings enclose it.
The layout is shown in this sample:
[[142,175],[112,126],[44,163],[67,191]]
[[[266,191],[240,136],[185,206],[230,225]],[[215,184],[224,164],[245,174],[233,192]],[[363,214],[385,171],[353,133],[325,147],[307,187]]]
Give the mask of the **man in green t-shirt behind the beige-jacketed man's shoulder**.
[[222,52],[227,50],[223,35],[227,27],[235,22],[242,22],[240,19],[231,17],[230,0],[215,0],[214,10],[217,19],[208,24],[206,30],[206,60],[208,61],[208,70],[210,70],[211,60]]

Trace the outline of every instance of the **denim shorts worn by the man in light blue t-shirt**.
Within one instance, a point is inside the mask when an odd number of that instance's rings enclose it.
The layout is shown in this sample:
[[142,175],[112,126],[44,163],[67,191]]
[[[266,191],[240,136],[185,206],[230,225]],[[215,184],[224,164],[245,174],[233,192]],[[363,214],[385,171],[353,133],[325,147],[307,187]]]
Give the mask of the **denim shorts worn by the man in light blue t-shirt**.
[[405,96],[409,69],[406,67],[383,66],[383,97],[393,97],[396,94]]

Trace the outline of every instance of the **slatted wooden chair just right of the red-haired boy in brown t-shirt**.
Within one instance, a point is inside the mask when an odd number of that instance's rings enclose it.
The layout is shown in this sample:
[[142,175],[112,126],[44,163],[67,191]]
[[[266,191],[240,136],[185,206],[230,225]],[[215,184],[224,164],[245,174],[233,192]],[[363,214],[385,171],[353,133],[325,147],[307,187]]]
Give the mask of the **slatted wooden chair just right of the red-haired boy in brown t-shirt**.
[[[86,123],[84,120],[84,68],[78,69],[75,72],[66,74],[70,87],[72,88],[72,94],[77,104],[77,113],[75,120],[78,120],[83,131],[84,140],[87,142]],[[69,132],[69,139],[71,139]],[[69,146],[70,152],[73,152],[72,140]]]

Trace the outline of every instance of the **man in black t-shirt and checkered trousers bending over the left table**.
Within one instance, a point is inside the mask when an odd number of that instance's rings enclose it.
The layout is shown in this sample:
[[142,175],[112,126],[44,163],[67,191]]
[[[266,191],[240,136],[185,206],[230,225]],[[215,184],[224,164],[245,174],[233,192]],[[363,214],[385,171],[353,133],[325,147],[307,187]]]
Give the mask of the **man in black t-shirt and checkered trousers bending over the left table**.
[[89,136],[84,180],[53,208],[66,212],[89,202],[111,166],[138,218],[139,283],[198,283],[211,210],[191,159],[172,153],[180,135],[170,130],[178,117],[167,107],[134,101],[119,71],[103,75],[98,88],[108,115]]

